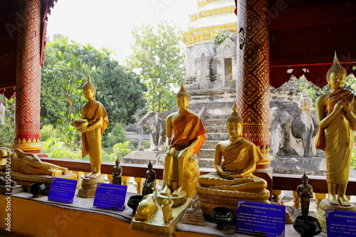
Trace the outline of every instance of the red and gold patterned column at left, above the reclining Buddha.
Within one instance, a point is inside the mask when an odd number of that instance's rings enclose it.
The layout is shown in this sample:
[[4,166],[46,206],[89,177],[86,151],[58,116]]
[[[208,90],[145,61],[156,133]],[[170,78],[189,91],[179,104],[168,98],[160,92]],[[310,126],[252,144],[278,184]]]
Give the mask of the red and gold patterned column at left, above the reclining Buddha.
[[39,153],[41,0],[21,0],[16,68],[16,135],[13,149]]

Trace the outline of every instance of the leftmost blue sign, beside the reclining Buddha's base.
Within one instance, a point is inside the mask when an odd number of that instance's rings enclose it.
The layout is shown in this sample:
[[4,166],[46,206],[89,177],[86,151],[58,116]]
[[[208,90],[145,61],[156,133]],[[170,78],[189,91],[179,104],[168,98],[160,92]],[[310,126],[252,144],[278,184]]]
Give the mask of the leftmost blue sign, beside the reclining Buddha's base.
[[73,204],[77,182],[78,180],[76,179],[53,178],[48,200]]

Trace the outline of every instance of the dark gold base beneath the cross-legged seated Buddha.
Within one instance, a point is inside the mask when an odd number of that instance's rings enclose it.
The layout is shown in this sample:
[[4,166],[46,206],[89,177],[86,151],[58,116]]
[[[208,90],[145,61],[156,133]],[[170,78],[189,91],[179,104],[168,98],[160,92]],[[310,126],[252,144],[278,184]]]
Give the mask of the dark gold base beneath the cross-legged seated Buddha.
[[218,206],[225,206],[229,207],[236,216],[238,200],[271,203],[268,201],[269,191],[267,189],[262,193],[248,193],[244,191],[209,189],[198,185],[197,193],[204,215],[210,215],[213,209]]

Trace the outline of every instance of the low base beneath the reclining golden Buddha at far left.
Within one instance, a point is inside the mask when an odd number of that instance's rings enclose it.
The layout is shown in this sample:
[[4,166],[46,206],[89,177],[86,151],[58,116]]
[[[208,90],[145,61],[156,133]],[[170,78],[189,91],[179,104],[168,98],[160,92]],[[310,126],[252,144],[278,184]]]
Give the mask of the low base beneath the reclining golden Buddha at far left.
[[[0,172],[0,176],[6,177],[5,172]],[[67,173],[63,175],[56,176],[56,178],[61,179],[78,179],[78,175],[75,173]],[[11,180],[15,181],[28,191],[28,188],[33,183],[44,183],[46,184],[46,190],[43,191],[44,195],[48,195],[49,188],[51,187],[53,177],[50,175],[30,175],[30,174],[20,174],[18,172],[11,172]]]

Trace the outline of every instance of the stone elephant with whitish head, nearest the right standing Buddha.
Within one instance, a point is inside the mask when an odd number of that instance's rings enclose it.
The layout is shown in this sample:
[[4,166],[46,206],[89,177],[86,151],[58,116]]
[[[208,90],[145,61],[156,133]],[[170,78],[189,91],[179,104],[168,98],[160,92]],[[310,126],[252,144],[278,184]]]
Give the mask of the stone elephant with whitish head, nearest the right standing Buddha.
[[313,112],[303,111],[292,122],[292,135],[302,139],[304,154],[303,157],[313,157],[311,154],[312,139],[318,134],[318,122]]

